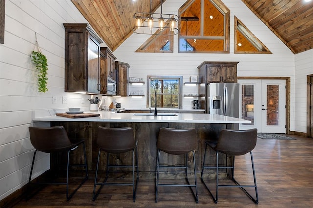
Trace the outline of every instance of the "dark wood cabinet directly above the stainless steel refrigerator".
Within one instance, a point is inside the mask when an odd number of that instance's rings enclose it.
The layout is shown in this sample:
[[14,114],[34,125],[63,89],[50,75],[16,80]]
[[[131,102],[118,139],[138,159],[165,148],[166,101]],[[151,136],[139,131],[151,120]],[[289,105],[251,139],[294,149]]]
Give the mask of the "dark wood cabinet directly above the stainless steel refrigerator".
[[208,62],[198,66],[199,82],[237,82],[237,64],[239,62]]

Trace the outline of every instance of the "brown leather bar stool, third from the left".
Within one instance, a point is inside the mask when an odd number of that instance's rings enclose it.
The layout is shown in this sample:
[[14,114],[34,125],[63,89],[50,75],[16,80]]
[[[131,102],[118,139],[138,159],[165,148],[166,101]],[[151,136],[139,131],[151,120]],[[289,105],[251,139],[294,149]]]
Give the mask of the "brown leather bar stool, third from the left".
[[[173,128],[160,128],[157,139],[157,157],[156,157],[156,172],[155,172],[155,184],[156,184],[156,202],[159,186],[176,186],[176,187],[189,187],[195,197],[196,203],[198,203],[198,190],[197,190],[197,178],[196,178],[196,164],[195,164],[195,149],[197,147],[197,133],[195,129],[173,129]],[[160,153],[161,151],[174,154],[185,155],[184,166],[161,166],[160,165]],[[194,176],[195,183],[190,184],[188,179],[188,152],[192,151],[194,162]],[[185,179],[188,184],[160,184],[159,172],[160,168],[183,168],[185,170]],[[195,187],[195,192],[192,187]]]

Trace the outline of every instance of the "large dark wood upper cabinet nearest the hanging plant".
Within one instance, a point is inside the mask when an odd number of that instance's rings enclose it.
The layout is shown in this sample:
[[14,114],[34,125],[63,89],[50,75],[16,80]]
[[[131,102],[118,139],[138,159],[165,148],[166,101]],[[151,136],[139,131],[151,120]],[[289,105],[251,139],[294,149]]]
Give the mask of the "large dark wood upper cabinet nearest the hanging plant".
[[65,92],[100,93],[101,39],[88,24],[65,28]]

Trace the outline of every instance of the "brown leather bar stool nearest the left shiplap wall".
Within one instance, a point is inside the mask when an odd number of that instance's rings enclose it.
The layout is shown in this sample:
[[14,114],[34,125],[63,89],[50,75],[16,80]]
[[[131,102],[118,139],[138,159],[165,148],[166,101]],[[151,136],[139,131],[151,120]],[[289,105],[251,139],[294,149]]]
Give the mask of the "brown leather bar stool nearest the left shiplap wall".
[[[28,180],[28,189],[31,184],[31,176],[34,168],[35,156],[37,151],[42,151],[45,153],[56,153],[56,152],[67,152],[67,179],[66,182],[36,182],[36,184],[65,184],[67,187],[66,197],[67,201],[76,193],[76,191],[85,183],[88,179],[88,167],[87,167],[87,159],[86,159],[86,150],[85,150],[85,141],[75,141],[71,142],[67,136],[67,132],[65,131],[63,126],[55,126],[55,127],[29,127],[30,133],[30,141],[31,144],[36,149],[33,155],[33,161],[31,164],[30,175]],[[84,164],[70,164],[70,152],[75,150],[78,145],[83,146],[84,152]],[[70,166],[81,166],[85,168],[85,177],[79,186],[69,195],[68,194],[68,178],[69,178],[69,169]],[[26,200],[28,197],[28,190],[26,193]]]

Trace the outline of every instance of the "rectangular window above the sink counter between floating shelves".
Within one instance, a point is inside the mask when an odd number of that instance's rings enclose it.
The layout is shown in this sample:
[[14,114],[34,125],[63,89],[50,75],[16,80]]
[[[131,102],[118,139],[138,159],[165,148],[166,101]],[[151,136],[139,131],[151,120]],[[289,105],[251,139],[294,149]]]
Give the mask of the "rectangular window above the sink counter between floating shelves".
[[147,76],[147,108],[182,108],[182,76]]

